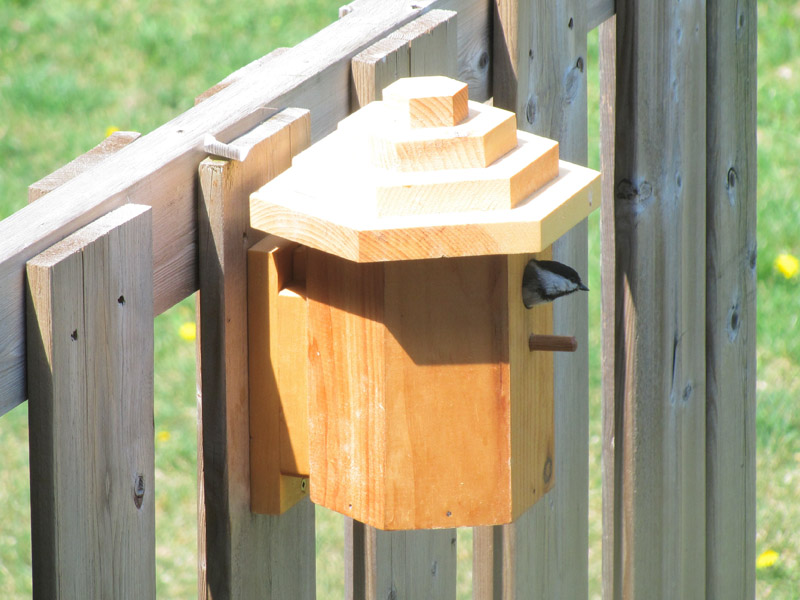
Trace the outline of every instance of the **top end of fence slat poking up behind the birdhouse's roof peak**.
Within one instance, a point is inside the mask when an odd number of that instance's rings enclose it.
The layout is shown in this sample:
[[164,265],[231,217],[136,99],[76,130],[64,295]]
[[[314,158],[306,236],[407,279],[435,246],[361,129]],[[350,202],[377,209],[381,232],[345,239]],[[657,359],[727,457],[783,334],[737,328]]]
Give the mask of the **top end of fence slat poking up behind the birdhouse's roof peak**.
[[458,77],[457,54],[455,12],[431,10],[417,17],[353,57],[352,110],[381,100],[383,88],[401,77]]

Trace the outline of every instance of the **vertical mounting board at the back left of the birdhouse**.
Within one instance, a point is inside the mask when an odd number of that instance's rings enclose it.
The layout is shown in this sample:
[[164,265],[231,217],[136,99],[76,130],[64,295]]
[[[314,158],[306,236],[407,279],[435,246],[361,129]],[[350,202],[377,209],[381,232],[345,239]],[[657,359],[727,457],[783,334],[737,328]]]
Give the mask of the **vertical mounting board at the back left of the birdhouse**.
[[250,508],[281,514],[308,494],[308,342],[297,244],[268,236],[247,251]]

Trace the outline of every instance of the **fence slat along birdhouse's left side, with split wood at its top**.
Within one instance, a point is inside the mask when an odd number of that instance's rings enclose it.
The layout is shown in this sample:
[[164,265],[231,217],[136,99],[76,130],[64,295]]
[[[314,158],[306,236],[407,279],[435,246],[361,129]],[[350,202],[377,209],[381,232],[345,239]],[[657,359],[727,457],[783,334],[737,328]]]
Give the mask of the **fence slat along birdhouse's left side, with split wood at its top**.
[[209,599],[315,595],[313,505],[280,517],[250,512],[249,195],[309,144],[308,111],[286,109],[260,131],[243,162],[200,164],[199,592]]

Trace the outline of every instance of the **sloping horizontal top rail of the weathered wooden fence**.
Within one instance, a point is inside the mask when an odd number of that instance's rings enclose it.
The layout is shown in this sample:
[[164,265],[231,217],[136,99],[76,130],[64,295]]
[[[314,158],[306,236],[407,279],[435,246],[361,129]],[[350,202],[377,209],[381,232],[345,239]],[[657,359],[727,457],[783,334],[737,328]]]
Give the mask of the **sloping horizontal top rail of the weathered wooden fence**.
[[[128,202],[153,207],[154,310],[161,313],[197,289],[197,166],[207,133],[228,142],[258,123],[258,109],[313,109],[314,137],[349,111],[350,59],[424,10],[459,10],[460,70],[489,95],[488,3],[357,0],[354,11],[278,57],[265,61],[169,123],[0,222],[0,414],[25,398],[25,262],[57,240]],[[267,82],[265,84],[265,82]]]

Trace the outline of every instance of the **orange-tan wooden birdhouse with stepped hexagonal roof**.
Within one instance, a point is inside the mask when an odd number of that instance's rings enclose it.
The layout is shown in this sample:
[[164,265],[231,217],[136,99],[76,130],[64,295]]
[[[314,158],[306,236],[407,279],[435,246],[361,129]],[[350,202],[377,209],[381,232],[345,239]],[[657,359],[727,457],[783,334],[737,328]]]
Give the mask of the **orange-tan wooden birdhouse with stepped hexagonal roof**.
[[[554,484],[533,253],[599,174],[444,77],[399,80],[251,196],[252,509],[380,529],[508,523]],[[255,379],[254,379],[255,378]]]

